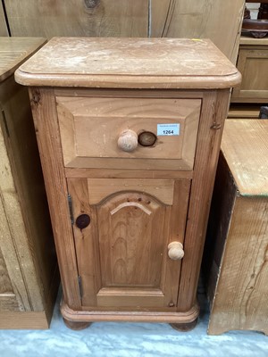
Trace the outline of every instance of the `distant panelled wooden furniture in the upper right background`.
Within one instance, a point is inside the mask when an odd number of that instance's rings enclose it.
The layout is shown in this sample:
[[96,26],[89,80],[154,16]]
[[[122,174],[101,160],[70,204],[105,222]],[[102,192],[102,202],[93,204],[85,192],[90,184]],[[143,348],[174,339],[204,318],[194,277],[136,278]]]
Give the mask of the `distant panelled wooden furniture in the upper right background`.
[[241,37],[237,66],[242,82],[234,88],[231,102],[268,103],[268,37]]

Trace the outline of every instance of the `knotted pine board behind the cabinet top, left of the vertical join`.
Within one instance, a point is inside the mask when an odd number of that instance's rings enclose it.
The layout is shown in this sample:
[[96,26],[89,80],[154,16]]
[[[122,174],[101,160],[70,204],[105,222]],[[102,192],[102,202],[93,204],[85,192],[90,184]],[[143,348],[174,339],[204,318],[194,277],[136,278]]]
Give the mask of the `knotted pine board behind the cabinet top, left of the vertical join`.
[[12,36],[147,37],[147,1],[95,3],[4,0]]

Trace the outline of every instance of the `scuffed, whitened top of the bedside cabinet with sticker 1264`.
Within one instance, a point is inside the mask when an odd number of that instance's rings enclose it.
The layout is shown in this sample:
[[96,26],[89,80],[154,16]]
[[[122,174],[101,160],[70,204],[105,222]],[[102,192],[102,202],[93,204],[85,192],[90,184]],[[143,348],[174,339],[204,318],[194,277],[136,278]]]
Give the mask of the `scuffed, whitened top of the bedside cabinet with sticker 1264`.
[[54,37],[23,63],[26,86],[228,88],[239,71],[210,40]]

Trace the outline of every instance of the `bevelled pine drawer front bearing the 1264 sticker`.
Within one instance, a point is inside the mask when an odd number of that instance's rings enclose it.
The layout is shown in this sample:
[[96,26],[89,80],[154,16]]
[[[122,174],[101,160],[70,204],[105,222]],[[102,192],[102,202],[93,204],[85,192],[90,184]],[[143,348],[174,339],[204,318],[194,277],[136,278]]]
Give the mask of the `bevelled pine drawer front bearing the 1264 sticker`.
[[[57,97],[64,165],[192,170],[200,107],[199,99]],[[126,152],[118,145],[126,130],[156,141]]]

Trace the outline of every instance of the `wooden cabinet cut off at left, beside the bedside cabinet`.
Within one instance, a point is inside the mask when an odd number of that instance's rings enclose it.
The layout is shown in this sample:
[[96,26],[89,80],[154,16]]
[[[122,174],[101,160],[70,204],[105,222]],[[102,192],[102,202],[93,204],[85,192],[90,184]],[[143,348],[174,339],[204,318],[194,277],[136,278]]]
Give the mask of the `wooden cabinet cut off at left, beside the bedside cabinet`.
[[48,328],[59,278],[38,145],[15,69],[43,38],[0,38],[0,328]]

